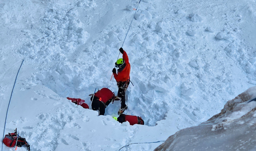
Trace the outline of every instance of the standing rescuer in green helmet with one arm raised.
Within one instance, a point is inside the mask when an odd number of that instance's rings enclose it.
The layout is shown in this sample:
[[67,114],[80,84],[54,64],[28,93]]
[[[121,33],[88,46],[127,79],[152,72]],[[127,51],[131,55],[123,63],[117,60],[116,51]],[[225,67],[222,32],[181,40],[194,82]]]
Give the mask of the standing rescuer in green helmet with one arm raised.
[[115,67],[118,67],[117,73],[116,68],[113,68],[112,72],[118,86],[117,96],[121,98],[121,109],[118,112],[118,114],[121,114],[127,109],[126,90],[130,84],[130,63],[126,51],[122,47],[119,51],[123,54],[123,58],[118,59],[115,63]]

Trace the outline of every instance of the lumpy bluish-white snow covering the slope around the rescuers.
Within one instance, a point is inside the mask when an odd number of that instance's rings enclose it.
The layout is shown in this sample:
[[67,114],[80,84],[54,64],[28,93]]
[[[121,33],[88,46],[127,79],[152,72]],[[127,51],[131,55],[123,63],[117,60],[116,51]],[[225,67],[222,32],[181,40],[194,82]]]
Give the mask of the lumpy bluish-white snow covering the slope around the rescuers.
[[[17,128],[37,151],[119,150],[205,122],[255,86],[254,0],[142,0],[135,14],[138,2],[1,1],[0,136]],[[145,125],[116,122],[118,102],[97,116],[66,99],[90,104],[95,89],[117,93],[110,78],[122,43],[134,84],[125,113]]]

